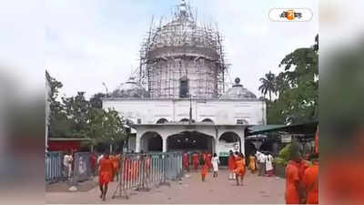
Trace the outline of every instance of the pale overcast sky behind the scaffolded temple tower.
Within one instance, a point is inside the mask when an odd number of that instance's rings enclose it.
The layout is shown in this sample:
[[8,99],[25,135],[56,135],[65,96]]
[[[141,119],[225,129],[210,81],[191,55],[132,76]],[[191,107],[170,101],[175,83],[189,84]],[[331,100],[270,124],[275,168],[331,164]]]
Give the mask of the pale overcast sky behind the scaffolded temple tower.
[[[60,80],[67,97],[90,97],[125,82],[138,66],[138,51],[152,15],[170,16],[179,0],[46,1],[45,68]],[[188,2],[188,1],[187,1]],[[256,95],[259,77],[278,73],[280,60],[294,49],[311,46],[319,32],[316,0],[189,0],[197,18],[217,23],[225,36],[229,77],[241,78]],[[309,22],[271,22],[272,8],[309,8]]]

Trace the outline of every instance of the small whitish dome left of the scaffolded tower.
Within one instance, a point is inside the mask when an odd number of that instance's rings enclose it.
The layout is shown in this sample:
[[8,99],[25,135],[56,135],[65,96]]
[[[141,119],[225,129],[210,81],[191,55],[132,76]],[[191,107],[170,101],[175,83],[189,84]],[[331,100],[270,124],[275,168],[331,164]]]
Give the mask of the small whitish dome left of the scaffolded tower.
[[116,87],[111,97],[149,97],[149,93],[137,84],[135,77],[129,77],[125,83]]

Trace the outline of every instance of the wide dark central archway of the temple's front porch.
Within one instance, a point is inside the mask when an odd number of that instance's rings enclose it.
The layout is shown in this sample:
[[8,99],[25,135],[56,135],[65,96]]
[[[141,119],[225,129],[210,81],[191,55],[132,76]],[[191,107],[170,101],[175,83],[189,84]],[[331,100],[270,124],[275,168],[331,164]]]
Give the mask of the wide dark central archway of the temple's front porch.
[[215,151],[213,137],[197,131],[184,131],[167,138],[167,151]]

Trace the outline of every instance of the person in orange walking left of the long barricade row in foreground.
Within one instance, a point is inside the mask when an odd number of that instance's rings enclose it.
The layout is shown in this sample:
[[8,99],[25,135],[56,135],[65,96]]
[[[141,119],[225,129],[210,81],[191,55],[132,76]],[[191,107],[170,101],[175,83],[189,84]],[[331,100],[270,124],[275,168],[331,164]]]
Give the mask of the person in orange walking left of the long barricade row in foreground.
[[109,154],[107,152],[104,154],[104,158],[100,160],[99,169],[98,183],[101,190],[100,198],[106,200],[107,186],[108,183],[112,181],[114,175],[113,162],[109,159]]

